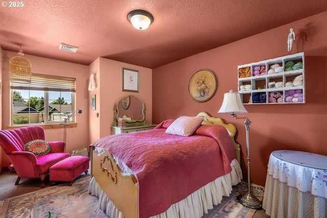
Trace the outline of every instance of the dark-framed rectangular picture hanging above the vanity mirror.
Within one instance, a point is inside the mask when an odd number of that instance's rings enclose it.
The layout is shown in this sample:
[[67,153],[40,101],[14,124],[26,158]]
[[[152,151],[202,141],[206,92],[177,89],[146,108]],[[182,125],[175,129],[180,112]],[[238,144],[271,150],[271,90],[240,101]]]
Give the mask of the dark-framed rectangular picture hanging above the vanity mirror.
[[138,70],[123,68],[123,91],[138,92]]

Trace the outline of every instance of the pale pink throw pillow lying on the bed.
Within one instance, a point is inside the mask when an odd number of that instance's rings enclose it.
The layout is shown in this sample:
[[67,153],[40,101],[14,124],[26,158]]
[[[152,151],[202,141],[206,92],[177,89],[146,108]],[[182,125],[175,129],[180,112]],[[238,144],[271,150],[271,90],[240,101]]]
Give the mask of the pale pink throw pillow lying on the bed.
[[201,125],[203,118],[195,116],[180,116],[166,130],[166,133],[180,136],[190,136]]

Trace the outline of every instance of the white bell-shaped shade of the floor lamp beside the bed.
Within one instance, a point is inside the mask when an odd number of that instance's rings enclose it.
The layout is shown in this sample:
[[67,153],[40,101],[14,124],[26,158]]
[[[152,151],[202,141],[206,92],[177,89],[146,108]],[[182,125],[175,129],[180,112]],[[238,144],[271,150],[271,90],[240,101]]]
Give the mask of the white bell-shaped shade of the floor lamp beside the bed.
[[243,106],[240,93],[234,92],[233,90],[225,93],[223,104],[218,113],[247,113],[247,110]]

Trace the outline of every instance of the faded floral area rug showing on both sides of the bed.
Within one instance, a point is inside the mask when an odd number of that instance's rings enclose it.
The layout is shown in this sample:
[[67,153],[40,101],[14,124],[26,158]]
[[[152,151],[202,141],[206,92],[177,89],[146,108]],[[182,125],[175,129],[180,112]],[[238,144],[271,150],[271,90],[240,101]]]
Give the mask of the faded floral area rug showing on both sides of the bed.
[[[78,179],[72,186],[52,186],[24,195],[8,198],[0,202],[0,217],[108,217],[99,208],[98,198],[89,195],[90,176]],[[237,201],[239,187],[234,187],[229,197],[224,197],[222,203],[209,210],[203,218],[251,218],[254,209],[243,207]]]

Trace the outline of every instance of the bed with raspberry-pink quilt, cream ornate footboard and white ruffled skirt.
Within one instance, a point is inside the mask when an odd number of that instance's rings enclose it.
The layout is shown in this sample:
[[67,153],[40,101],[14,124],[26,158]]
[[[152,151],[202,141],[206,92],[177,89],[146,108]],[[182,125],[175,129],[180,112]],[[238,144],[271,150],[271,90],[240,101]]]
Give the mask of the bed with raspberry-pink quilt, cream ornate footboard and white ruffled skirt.
[[[203,121],[191,137],[165,134],[174,122],[165,120],[153,130],[90,145],[89,192],[109,217],[200,218],[229,196],[242,179],[236,128],[205,112],[196,117]],[[156,137],[165,138],[156,144]]]

